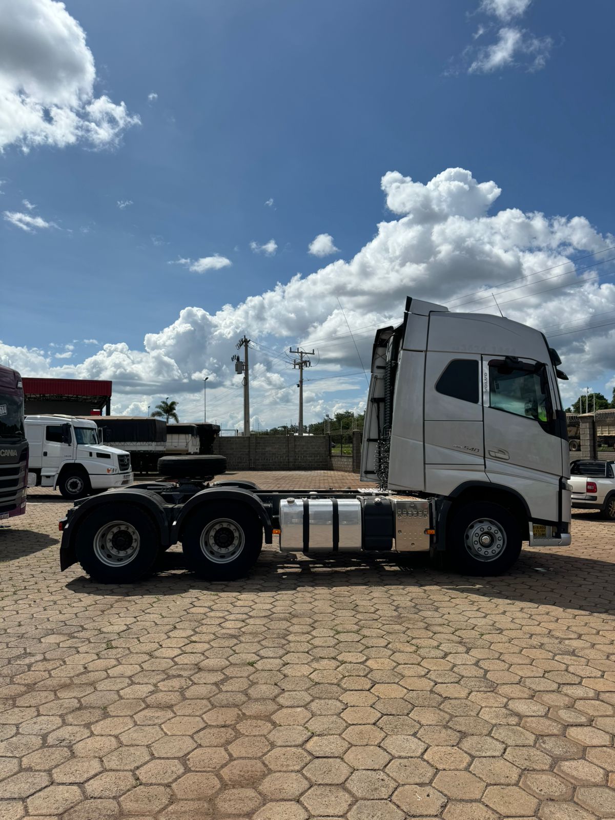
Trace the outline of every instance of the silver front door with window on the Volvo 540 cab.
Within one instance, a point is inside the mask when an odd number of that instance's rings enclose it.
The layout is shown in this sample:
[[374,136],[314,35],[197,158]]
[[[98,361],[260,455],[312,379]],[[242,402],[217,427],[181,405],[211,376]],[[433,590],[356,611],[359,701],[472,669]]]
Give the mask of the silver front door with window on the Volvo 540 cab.
[[482,359],[487,476],[517,490],[532,517],[558,521],[562,445],[548,368],[531,359]]

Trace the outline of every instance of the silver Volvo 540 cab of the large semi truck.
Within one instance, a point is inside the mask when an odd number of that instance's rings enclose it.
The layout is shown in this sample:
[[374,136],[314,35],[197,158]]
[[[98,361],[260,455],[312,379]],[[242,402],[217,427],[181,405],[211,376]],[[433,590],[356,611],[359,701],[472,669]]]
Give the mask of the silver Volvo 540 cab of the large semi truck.
[[569,544],[559,363],[539,330],[408,298],[403,324],[376,334],[362,480],[444,514],[497,504],[530,544]]

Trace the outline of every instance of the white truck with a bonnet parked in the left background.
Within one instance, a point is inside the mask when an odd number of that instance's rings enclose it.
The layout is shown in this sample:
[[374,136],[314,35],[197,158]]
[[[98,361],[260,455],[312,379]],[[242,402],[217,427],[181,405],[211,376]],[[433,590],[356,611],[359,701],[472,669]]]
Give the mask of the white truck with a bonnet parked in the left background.
[[65,499],[132,484],[130,453],[98,443],[93,421],[73,416],[26,416],[28,485],[58,488]]

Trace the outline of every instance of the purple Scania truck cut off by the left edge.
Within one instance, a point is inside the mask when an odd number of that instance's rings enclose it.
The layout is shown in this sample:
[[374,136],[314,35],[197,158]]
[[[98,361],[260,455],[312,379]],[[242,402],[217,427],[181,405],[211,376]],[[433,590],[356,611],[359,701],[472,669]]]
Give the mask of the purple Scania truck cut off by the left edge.
[[25,512],[28,442],[21,376],[0,366],[0,521]]

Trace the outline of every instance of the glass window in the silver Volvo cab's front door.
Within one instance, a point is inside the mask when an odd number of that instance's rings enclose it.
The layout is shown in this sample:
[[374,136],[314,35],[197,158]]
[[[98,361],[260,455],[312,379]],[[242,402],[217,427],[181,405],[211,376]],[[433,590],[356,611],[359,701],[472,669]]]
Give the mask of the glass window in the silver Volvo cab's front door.
[[546,385],[540,373],[490,364],[489,381],[491,408],[548,421]]

